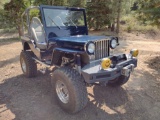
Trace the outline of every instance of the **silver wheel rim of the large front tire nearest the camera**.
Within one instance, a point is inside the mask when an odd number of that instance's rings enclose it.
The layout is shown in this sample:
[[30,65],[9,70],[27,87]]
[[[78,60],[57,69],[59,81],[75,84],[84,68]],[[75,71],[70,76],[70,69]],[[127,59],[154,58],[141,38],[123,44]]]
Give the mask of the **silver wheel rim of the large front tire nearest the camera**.
[[66,85],[60,80],[56,82],[56,93],[58,95],[58,98],[61,100],[61,102],[65,104],[68,103],[69,101],[68,89]]

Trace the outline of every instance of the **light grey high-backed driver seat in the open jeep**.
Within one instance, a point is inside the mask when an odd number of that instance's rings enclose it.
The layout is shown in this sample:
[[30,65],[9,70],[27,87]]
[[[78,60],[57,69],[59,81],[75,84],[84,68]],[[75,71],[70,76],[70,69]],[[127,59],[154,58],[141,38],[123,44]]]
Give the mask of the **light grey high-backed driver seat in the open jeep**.
[[35,40],[36,46],[39,49],[47,49],[47,43],[45,41],[45,33],[43,25],[38,17],[33,17],[31,21],[31,37]]

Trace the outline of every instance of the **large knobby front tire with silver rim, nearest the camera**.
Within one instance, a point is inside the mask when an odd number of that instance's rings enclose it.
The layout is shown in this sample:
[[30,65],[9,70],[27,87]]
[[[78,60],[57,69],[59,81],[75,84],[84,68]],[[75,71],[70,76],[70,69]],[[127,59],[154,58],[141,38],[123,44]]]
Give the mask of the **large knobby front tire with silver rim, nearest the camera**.
[[56,100],[64,111],[74,114],[87,105],[87,89],[76,70],[70,67],[59,68],[53,72],[51,82]]

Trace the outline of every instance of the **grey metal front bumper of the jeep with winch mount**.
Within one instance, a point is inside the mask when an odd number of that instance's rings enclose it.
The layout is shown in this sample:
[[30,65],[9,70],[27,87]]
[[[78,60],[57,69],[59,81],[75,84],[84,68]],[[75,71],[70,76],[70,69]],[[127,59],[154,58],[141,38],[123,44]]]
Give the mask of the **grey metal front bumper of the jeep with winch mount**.
[[102,70],[100,63],[101,59],[92,61],[82,68],[81,73],[87,83],[108,82],[121,75],[128,76],[130,71],[133,71],[133,68],[137,67],[136,58],[127,58],[107,70]]

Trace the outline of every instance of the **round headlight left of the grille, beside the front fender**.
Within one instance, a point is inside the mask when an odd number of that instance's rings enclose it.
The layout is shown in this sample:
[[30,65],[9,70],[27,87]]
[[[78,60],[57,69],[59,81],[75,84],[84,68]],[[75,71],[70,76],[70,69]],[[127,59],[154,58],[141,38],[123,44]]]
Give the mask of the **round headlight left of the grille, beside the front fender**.
[[94,44],[94,42],[88,42],[87,44],[85,44],[85,51],[89,55],[93,55],[94,52],[95,52],[95,44]]

